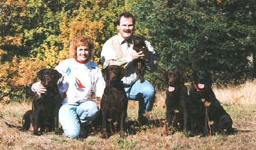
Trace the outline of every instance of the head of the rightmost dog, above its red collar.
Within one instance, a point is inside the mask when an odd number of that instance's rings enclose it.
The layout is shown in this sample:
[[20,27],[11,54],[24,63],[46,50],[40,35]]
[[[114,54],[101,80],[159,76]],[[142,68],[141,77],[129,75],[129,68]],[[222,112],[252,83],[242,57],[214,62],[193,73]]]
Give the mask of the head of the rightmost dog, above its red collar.
[[213,81],[211,81],[211,73],[207,70],[198,70],[193,72],[193,82],[196,89],[203,90],[210,88]]

